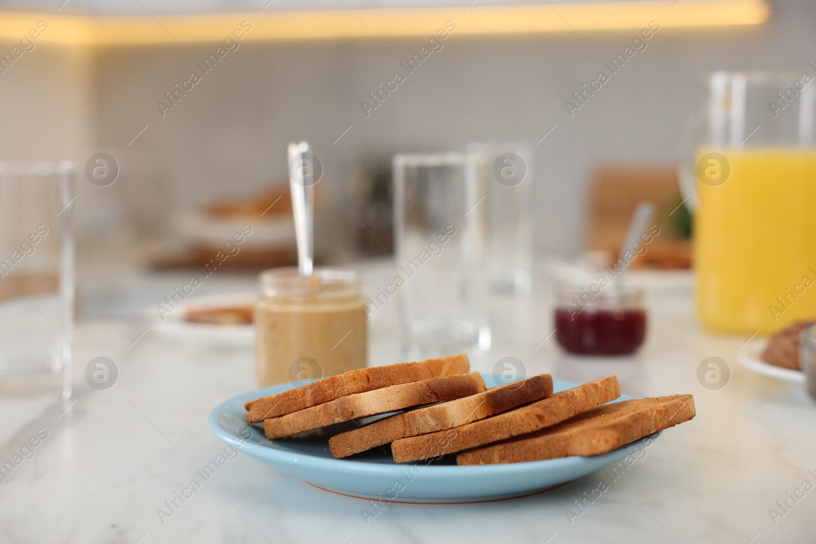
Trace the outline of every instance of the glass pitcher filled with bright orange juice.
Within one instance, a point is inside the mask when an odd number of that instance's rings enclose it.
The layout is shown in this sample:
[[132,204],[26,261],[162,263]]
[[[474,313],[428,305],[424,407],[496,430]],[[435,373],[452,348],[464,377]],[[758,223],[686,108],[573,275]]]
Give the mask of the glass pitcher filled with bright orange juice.
[[703,325],[770,334],[816,319],[816,69],[717,72],[681,172]]

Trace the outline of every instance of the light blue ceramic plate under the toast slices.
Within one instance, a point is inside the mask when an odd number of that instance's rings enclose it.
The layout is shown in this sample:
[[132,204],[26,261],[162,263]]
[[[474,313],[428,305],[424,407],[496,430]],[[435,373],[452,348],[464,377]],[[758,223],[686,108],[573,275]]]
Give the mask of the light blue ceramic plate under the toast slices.
[[[492,375],[482,376],[488,387],[496,385]],[[563,391],[579,384],[553,380],[553,385],[555,391]],[[241,453],[276,471],[322,489],[361,498],[397,502],[472,502],[521,497],[609,467],[641,449],[648,438],[592,457],[574,456],[503,465],[459,467],[455,454],[431,462],[397,464],[391,458],[389,446],[351,458],[335,459],[329,451],[329,437],[357,427],[356,423],[348,422],[350,427],[339,423],[303,433],[297,439],[267,440],[263,429],[246,422],[244,403],[247,400],[274,395],[292,387],[288,383],[265,387],[221,403],[210,414],[211,431],[224,443],[240,448]],[[622,395],[619,400],[631,398]]]

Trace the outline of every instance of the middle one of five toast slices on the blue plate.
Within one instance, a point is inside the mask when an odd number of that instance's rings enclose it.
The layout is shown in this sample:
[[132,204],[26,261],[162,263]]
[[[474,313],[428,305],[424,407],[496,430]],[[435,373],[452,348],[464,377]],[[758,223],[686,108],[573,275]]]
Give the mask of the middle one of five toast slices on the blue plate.
[[411,410],[332,436],[329,448],[335,458],[344,458],[399,438],[459,427],[539,400],[551,393],[552,377],[541,374],[440,405]]

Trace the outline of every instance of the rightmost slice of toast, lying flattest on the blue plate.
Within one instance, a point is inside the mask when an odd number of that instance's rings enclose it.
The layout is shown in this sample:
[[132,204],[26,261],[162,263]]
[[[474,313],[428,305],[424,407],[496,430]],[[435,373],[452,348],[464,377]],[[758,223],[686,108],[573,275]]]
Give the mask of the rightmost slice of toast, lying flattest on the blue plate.
[[540,461],[598,455],[694,418],[690,395],[623,400],[598,406],[560,425],[459,453],[459,465]]

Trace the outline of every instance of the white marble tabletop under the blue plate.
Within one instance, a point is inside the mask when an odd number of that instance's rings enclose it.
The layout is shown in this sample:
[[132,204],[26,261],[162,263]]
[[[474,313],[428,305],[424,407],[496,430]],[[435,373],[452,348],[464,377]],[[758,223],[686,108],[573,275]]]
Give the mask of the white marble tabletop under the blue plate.
[[[366,271],[369,286],[390,277],[382,264]],[[252,286],[251,279],[222,280],[211,283],[211,292]],[[154,304],[151,297],[163,293],[158,285],[174,281],[144,279],[136,303]],[[361,515],[366,501],[314,488],[240,454],[160,520],[165,501],[223,451],[206,418],[221,400],[255,388],[252,353],[174,343],[151,331],[129,347],[144,321],[81,321],[73,399],[0,402],[0,462],[38,430],[47,433],[34,440],[33,458],[0,484],[0,542],[816,542],[816,490],[801,489],[803,480],[816,484],[816,402],[801,387],[738,365],[735,353],[747,338],[703,332],[690,297],[650,296],[646,303],[654,315],[637,356],[565,356],[554,338],[542,343],[552,319],[539,273],[528,301],[493,301],[494,344],[473,365],[488,370],[500,357],[515,356],[530,373],[557,378],[617,374],[622,390],[634,396],[690,392],[693,421],[664,432],[617,479],[599,471],[499,502],[392,503],[370,524]],[[375,364],[401,359],[396,315],[392,304],[371,323]],[[118,365],[118,383],[108,391],[84,381],[95,356]],[[731,381],[720,391],[697,381],[707,356],[730,364]],[[609,489],[579,510],[575,502],[601,480]],[[784,511],[778,501],[787,501]],[[775,519],[770,509],[778,511]]]

